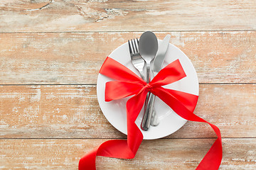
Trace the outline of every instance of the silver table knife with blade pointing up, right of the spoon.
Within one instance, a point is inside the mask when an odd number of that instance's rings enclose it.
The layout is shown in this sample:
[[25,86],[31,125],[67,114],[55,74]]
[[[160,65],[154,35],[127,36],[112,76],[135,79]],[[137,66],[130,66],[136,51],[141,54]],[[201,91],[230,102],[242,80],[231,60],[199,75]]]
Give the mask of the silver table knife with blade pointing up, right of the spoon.
[[[154,76],[156,76],[156,74],[159,73],[159,71],[161,70],[161,67],[163,66],[164,57],[166,56],[166,51],[169,47],[170,38],[171,38],[171,35],[169,34],[166,35],[164,40],[161,42],[161,45],[159,45],[159,50],[157,51],[156,57],[154,58],[153,68],[152,68],[152,73],[154,74]],[[149,95],[149,101],[146,106],[146,111],[142,118],[142,125],[141,125],[142,130],[149,130],[151,118],[154,110],[153,108],[154,108],[155,97],[156,96],[154,96],[154,94]],[[154,118],[153,118],[153,121],[155,121]],[[152,124],[156,125],[157,123],[152,123]]]

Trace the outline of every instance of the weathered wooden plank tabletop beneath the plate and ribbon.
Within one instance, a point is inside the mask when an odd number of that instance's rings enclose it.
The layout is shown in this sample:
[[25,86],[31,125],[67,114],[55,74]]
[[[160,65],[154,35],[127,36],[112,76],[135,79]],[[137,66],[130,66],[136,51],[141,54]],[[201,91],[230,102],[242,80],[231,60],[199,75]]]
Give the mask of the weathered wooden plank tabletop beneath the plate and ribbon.
[[[0,2],[0,169],[78,169],[83,154],[126,135],[96,97],[105,57],[152,30],[190,58],[196,115],[223,136],[220,169],[256,169],[256,1]],[[196,169],[215,141],[188,122],[145,140],[134,159],[97,157],[97,169]]]

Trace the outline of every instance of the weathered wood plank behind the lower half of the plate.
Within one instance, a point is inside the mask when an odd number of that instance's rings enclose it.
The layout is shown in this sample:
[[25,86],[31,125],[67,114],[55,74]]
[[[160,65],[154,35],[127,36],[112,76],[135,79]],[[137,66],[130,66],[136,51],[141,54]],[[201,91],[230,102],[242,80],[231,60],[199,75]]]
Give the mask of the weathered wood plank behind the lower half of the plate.
[[[195,113],[223,137],[256,137],[256,84],[200,85]],[[107,122],[92,85],[0,86],[1,138],[125,138]],[[215,137],[188,122],[168,138]]]

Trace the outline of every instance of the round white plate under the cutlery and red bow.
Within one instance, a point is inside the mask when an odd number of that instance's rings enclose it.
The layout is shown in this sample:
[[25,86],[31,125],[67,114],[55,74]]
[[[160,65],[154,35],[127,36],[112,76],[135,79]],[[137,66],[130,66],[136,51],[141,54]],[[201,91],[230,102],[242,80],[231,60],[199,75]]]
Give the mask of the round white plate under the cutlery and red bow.
[[[161,40],[159,40],[159,42],[161,42]],[[132,72],[139,76],[139,72],[132,65],[127,43],[117,47],[117,49],[114,50],[109,55],[109,57],[121,64],[124,64],[124,66],[128,67],[132,70]],[[196,75],[196,70],[194,69],[193,64],[188,59],[188,57],[186,57],[186,55],[178,49],[178,47],[170,44],[166,52],[164,67],[177,59],[181,62],[181,65],[186,73],[186,77],[174,82],[173,84],[168,84],[164,86],[164,88],[198,95],[198,77]],[[98,75],[97,99],[100,103],[100,108],[102,113],[114,126],[114,128],[117,128],[117,130],[127,135],[126,102],[130,97],[116,101],[105,102],[105,84],[107,81],[112,81],[112,79],[105,77],[102,74]],[[144,131],[140,128],[144,109],[142,109],[137,120],[135,121],[139,129],[142,131],[144,140],[154,140],[161,137],[166,137],[167,135],[171,135],[172,133],[176,132],[176,130],[181,128],[187,121],[177,115],[169,106],[166,105],[166,103],[161,101],[158,97],[156,97],[154,108],[156,114],[159,116],[159,125],[156,127],[151,126],[147,131]]]

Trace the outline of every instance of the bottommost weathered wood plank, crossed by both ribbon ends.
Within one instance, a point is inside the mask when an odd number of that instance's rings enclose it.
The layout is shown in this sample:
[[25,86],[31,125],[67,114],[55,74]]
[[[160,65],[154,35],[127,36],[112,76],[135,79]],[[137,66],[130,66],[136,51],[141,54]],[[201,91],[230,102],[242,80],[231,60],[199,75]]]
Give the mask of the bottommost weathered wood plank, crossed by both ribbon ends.
[[[80,157],[105,140],[0,140],[0,167],[78,169]],[[97,169],[196,169],[214,139],[143,141],[134,159],[97,157]],[[223,139],[220,169],[256,169],[256,139]]]

